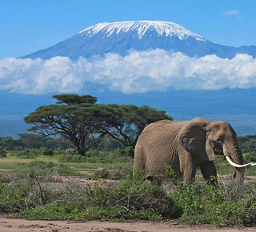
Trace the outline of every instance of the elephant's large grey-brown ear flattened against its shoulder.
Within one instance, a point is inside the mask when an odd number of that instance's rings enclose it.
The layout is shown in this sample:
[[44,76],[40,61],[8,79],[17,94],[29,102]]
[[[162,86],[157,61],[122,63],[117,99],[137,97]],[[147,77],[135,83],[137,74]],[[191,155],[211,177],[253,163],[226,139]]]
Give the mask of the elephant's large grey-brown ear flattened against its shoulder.
[[206,126],[209,123],[205,118],[194,118],[182,127],[178,142],[186,151],[197,154],[202,160],[213,161],[214,150],[206,139]]

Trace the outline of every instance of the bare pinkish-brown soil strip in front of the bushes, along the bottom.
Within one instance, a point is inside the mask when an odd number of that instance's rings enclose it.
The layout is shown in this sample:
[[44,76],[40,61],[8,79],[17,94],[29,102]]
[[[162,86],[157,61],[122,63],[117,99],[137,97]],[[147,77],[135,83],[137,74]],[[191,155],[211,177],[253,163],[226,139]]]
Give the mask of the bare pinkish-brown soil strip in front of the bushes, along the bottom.
[[256,227],[235,227],[218,228],[211,225],[184,226],[177,222],[62,222],[62,221],[28,221],[26,219],[0,218],[1,232],[77,232],[77,231],[120,231],[120,232],[153,232],[153,231],[171,231],[171,232],[238,232],[238,231],[256,231]]

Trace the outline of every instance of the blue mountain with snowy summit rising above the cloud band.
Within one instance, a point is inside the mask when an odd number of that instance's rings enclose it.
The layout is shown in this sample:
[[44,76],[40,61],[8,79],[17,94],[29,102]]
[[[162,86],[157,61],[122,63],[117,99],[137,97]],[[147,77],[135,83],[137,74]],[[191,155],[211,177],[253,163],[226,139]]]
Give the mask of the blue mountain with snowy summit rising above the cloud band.
[[174,22],[128,21],[98,23],[49,48],[38,50],[22,58],[49,59],[66,56],[71,59],[90,58],[94,54],[115,53],[125,55],[134,50],[173,50],[190,57],[216,54],[221,58],[234,58],[236,54],[256,57],[256,46],[222,46],[210,42]]

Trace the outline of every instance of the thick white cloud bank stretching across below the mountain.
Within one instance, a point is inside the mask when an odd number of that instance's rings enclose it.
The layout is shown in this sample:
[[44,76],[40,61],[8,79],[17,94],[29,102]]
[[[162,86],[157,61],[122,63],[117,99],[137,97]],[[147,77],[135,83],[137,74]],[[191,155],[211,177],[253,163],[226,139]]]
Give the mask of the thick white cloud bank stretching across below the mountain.
[[125,94],[152,90],[221,90],[256,87],[256,58],[206,55],[190,58],[166,50],[135,51],[125,57],[67,57],[49,60],[5,58],[0,60],[0,90],[18,94],[86,93],[98,90]]

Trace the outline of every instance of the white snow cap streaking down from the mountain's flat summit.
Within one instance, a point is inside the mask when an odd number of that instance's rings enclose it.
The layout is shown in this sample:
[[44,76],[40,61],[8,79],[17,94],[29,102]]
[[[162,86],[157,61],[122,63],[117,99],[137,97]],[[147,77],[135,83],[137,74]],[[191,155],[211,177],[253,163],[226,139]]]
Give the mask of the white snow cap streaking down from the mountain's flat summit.
[[194,37],[198,41],[206,41],[202,36],[194,34],[190,30],[186,30],[186,28],[177,23],[164,21],[103,22],[90,26],[85,30],[80,31],[79,34],[91,37],[99,32],[104,32],[106,36],[110,37],[111,34],[126,33],[129,30],[134,30],[139,39],[141,39],[147,31],[156,31],[158,36],[165,35],[166,37],[171,37],[174,35],[181,40],[188,37]]

